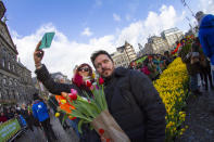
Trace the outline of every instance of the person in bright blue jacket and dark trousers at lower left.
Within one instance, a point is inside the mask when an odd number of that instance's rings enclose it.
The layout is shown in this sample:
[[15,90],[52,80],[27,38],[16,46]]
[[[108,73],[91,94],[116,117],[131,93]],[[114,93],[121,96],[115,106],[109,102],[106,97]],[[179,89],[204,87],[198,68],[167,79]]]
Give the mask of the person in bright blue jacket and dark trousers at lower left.
[[48,114],[47,105],[40,100],[38,93],[34,94],[34,101],[35,102],[32,107],[34,117],[41,124],[48,141],[51,142],[51,139],[53,141],[56,140],[50,124],[50,116]]

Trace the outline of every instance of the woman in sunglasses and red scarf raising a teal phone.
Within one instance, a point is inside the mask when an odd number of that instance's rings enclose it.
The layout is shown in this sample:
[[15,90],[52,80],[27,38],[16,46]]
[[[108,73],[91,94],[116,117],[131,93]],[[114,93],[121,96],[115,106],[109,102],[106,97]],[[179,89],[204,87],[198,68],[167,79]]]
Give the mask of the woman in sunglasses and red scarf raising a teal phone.
[[[43,57],[43,50],[39,49],[41,41],[37,44],[34,52],[34,61],[36,66],[36,75],[39,81],[55,95],[66,95],[71,92],[71,89],[77,90],[78,94],[85,96],[84,92],[87,92],[89,95],[90,90],[87,88],[87,80],[92,81],[92,68],[88,64],[81,64],[77,67],[73,83],[60,83],[55,82],[51,75],[49,74],[45,64],[41,64]],[[80,134],[80,142],[101,142],[99,134],[95,130],[90,130],[88,125],[83,126],[83,134]]]

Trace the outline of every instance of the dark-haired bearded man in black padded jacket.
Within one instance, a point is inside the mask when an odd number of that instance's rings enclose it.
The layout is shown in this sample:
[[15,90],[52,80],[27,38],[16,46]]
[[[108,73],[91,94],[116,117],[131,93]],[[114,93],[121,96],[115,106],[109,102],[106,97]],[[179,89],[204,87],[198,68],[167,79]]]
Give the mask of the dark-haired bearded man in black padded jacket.
[[137,70],[115,68],[103,50],[95,52],[91,62],[105,80],[110,113],[131,142],[164,142],[166,111],[150,79]]

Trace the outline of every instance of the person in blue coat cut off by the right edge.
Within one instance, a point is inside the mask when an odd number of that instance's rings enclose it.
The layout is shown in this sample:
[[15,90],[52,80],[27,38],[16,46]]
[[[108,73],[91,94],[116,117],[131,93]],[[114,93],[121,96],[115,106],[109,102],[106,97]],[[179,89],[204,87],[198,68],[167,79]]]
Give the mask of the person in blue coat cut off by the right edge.
[[211,70],[214,82],[214,15],[197,12],[196,18],[199,22],[199,39],[204,54],[211,61]]

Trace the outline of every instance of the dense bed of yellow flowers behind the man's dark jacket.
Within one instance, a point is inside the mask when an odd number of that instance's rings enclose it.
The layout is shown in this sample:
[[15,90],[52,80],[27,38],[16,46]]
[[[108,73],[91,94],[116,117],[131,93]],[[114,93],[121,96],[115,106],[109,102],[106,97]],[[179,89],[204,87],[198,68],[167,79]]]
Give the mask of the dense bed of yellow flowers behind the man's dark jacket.
[[182,109],[186,106],[188,94],[188,79],[186,65],[180,57],[177,57],[163,72],[160,79],[153,82],[167,112],[165,117],[167,122],[166,141],[173,141],[175,137],[179,137],[187,129],[187,127],[181,127],[186,117]]

